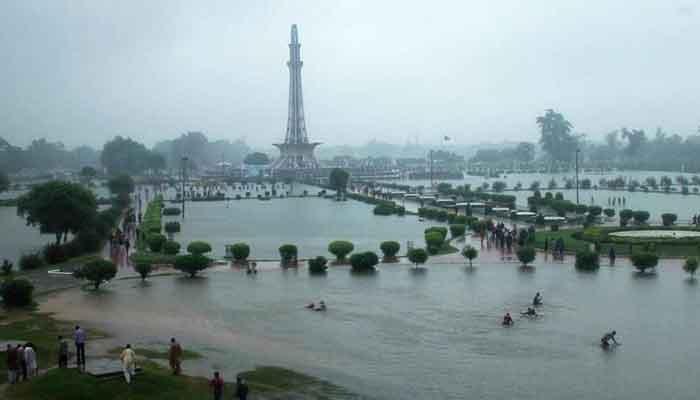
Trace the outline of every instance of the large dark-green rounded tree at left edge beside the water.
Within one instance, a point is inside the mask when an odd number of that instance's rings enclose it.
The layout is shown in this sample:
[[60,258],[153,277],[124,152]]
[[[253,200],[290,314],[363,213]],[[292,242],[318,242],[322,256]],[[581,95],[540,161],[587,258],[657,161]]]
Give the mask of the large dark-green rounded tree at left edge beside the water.
[[17,202],[17,214],[27,225],[56,235],[56,244],[89,227],[97,216],[97,200],[80,184],[51,181],[34,186]]

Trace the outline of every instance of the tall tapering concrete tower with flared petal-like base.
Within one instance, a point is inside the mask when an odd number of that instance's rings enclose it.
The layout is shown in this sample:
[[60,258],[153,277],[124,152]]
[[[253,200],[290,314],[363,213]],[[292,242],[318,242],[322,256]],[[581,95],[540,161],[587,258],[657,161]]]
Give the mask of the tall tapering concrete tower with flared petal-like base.
[[314,148],[320,143],[309,142],[304,120],[304,96],[301,93],[301,53],[297,26],[292,25],[292,39],[289,43],[289,116],[284,143],[275,146],[280,156],[272,164],[274,170],[310,170],[318,168]]

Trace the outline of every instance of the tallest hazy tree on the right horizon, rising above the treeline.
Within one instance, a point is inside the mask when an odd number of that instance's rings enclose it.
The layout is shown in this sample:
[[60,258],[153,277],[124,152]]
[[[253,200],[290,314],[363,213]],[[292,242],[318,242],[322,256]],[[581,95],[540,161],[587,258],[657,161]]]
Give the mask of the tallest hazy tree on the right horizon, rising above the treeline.
[[537,117],[540,126],[542,149],[554,161],[572,160],[579,138],[571,134],[573,125],[561,113],[552,109],[546,110],[543,116]]

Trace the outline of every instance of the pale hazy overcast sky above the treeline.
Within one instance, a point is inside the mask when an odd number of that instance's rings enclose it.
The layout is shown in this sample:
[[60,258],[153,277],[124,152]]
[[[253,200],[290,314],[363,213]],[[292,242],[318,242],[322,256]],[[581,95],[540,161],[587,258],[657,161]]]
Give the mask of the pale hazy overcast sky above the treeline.
[[700,125],[697,0],[0,0],[0,136],[279,141],[292,23],[312,140]]

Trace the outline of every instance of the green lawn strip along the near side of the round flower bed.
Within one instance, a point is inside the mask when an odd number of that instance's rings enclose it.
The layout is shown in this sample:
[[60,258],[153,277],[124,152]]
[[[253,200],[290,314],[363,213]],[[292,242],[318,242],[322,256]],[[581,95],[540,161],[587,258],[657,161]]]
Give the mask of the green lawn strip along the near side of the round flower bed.
[[[575,252],[577,250],[588,248],[590,246],[590,242],[572,237],[572,234],[576,231],[576,229],[560,229],[556,232],[538,231],[535,233],[535,247],[538,249],[543,249],[545,239],[549,238],[549,250],[551,251],[552,247],[554,246],[553,240],[563,238],[564,250],[567,252]],[[600,254],[607,255],[610,251],[610,247],[615,247],[615,253],[618,256],[629,255],[631,252],[643,249],[643,245],[641,244],[629,245],[618,243],[601,243]],[[700,255],[700,248],[695,245],[672,245],[659,243],[656,244],[656,254],[658,254],[660,257],[697,256]]]

